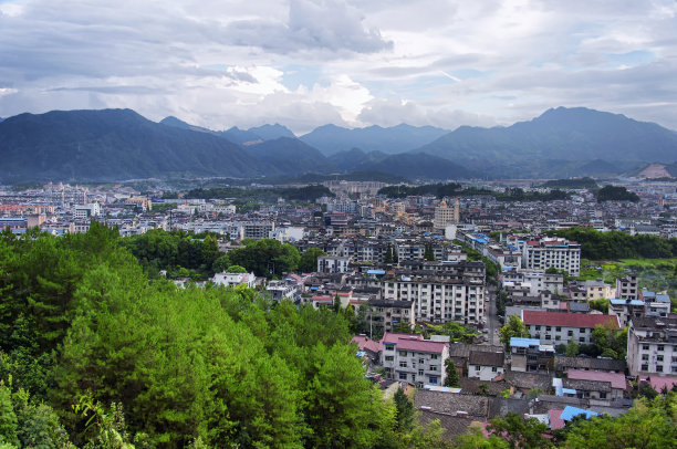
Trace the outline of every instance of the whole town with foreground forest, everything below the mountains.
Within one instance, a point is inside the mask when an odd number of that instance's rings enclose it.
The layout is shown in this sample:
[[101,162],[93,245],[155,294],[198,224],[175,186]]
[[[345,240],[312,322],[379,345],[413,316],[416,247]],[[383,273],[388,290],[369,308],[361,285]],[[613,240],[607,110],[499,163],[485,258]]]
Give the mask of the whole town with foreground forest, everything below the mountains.
[[677,185],[0,189],[0,448],[674,447]]

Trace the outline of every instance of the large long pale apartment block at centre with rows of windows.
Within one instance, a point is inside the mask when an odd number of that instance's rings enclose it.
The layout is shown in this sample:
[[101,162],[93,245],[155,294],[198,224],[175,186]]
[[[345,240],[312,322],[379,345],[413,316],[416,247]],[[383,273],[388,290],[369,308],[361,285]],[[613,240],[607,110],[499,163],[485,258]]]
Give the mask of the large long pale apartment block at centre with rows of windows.
[[485,282],[438,276],[384,278],[383,296],[415,303],[417,321],[480,324],[485,317]]

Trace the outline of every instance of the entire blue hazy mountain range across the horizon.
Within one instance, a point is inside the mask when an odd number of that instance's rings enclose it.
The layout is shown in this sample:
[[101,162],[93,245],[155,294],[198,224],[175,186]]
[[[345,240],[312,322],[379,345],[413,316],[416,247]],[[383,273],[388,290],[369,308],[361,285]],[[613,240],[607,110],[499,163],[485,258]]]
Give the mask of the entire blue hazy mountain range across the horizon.
[[507,127],[274,124],[212,130],[131,109],[53,111],[0,121],[0,180],[233,178],[378,171],[409,179],[560,178],[677,161],[677,133],[586,108],[558,107]]

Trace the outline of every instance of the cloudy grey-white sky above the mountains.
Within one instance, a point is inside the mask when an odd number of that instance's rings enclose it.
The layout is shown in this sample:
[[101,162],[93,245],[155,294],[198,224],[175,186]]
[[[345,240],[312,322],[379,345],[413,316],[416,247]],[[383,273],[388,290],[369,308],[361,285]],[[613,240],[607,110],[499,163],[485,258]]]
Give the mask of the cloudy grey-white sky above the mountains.
[[0,0],[0,116],[456,128],[587,106],[677,129],[675,0]]

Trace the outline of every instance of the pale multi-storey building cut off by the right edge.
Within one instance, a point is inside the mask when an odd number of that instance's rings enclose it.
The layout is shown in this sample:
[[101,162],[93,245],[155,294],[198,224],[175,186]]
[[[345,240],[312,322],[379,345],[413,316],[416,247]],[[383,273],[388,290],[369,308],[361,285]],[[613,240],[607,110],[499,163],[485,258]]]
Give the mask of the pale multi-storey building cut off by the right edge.
[[631,321],[627,369],[632,376],[677,375],[677,319],[645,316]]

